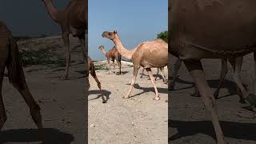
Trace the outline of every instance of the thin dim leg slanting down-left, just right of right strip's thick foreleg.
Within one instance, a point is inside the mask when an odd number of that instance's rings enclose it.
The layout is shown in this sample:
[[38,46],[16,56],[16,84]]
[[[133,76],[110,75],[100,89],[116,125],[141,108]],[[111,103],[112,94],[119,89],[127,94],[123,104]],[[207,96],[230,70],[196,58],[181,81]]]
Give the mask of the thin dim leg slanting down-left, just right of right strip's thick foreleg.
[[218,98],[219,90],[222,88],[222,84],[224,82],[224,78],[226,77],[227,71],[228,71],[227,59],[222,58],[222,70],[221,70],[221,75],[220,75],[219,82],[218,82],[218,88],[214,92],[214,98]]

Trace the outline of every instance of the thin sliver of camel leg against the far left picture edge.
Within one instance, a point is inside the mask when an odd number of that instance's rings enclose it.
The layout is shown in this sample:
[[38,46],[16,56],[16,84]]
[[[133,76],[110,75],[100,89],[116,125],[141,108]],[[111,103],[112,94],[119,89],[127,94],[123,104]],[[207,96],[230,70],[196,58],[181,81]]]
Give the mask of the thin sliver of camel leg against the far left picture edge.
[[3,64],[0,67],[0,130],[2,130],[2,127],[5,124],[7,119],[5,106],[2,100],[2,80],[3,80],[4,71],[5,71],[5,65]]

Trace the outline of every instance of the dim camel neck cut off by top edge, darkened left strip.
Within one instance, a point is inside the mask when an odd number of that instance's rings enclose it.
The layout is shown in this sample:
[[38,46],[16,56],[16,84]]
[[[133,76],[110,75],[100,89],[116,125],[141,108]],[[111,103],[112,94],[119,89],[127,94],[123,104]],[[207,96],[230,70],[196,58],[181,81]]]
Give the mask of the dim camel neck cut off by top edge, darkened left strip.
[[46,10],[48,11],[48,14],[50,15],[50,18],[54,22],[59,23],[59,21],[58,21],[58,10],[54,6],[54,3],[52,2],[52,0],[43,0],[43,2],[46,6]]

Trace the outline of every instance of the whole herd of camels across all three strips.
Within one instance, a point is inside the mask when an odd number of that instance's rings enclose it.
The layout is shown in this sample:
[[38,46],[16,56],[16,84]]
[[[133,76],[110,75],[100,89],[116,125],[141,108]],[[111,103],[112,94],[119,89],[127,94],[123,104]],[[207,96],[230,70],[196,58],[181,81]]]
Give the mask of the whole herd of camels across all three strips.
[[[58,23],[62,28],[62,39],[66,52],[66,70],[63,79],[69,78],[70,67],[70,42],[69,34],[77,37],[82,42],[83,58],[86,66],[86,89],[89,90],[89,73],[98,83],[101,90],[101,83],[98,81],[94,70],[94,63],[90,57],[87,57],[86,50],[86,30],[87,22],[87,2],[83,0],[72,0],[65,10],[57,10],[52,0],[42,0],[46,6],[50,18]],[[114,42],[114,47],[109,52],[104,50],[104,46],[98,48],[106,56],[110,70],[110,60],[118,62],[118,73],[121,74],[121,57],[130,60],[134,64],[134,73],[131,79],[130,89],[123,98],[129,98],[134,88],[134,83],[138,70],[142,66],[148,73],[150,81],[155,90],[154,100],[159,100],[158,89],[153,77],[151,68],[158,68],[162,75],[164,66],[169,63],[168,52],[178,58],[174,66],[173,81],[169,83],[169,88],[174,89],[175,78],[178,74],[182,62],[187,70],[190,71],[196,85],[196,94],[202,97],[206,110],[210,112],[211,121],[214,125],[215,134],[218,144],[226,143],[222,133],[222,128],[218,122],[215,98],[218,98],[219,89],[222,86],[223,79],[227,73],[227,61],[229,60],[234,69],[234,81],[238,85],[240,102],[244,102],[249,95],[242,86],[240,71],[242,67],[242,57],[254,52],[256,43],[255,28],[255,9],[256,2],[247,2],[234,0],[230,1],[210,1],[204,0],[190,1],[173,0],[169,2],[169,32],[170,42],[168,44],[162,39],[154,39],[149,42],[142,42],[132,50],[126,49],[121,42],[116,30],[104,31],[103,38],[108,38]],[[183,7],[181,9],[181,7]],[[227,9],[229,8],[229,9]],[[186,9],[186,10],[184,10]],[[216,13],[216,10],[218,13]],[[86,14],[86,17],[85,17]],[[247,14],[254,14],[246,17]],[[4,22],[0,22],[0,80],[1,80],[1,97],[0,97],[0,130],[6,122],[6,111],[2,100],[2,81],[5,68],[8,70],[10,83],[22,94],[26,104],[30,108],[30,114],[36,126],[38,126],[40,137],[44,143],[42,130],[42,116],[40,107],[30,94],[26,85],[26,78],[22,70],[21,60],[19,59],[18,46],[10,30]],[[202,58],[220,58],[222,59],[222,72],[218,90],[211,93],[210,86],[206,82],[202,64]],[[254,54],[254,61],[256,54]],[[254,62],[256,63],[256,62]],[[170,68],[170,67],[169,67]],[[143,71],[144,71],[143,69]],[[109,72],[110,73],[110,72]],[[254,78],[255,82],[255,78]],[[255,91],[254,83],[254,92]],[[102,91],[102,90],[101,90]],[[101,92],[102,93],[102,92]],[[102,102],[106,99],[102,94]],[[171,125],[171,123],[170,123]]]

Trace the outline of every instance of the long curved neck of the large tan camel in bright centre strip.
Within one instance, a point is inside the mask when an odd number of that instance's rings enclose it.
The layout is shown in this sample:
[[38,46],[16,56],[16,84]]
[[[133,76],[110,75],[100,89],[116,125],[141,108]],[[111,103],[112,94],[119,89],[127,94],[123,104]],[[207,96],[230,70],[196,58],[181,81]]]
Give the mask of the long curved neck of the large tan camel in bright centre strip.
[[122,46],[122,42],[118,35],[116,35],[116,37],[113,39],[113,42],[116,48],[118,49],[118,52],[122,55],[122,57],[131,60],[133,56],[133,51],[127,50],[124,46]]

